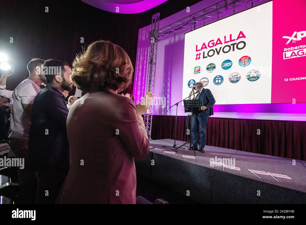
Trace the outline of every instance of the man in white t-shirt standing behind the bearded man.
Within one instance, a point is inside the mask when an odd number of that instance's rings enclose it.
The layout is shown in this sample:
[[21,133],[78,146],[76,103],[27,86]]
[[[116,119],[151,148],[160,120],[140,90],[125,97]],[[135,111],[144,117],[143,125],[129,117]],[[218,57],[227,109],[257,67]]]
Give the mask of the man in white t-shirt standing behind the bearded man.
[[[20,199],[17,203],[35,203],[36,177],[28,163],[28,136],[31,126],[32,104],[35,96],[40,92],[39,85],[46,82],[41,71],[44,60],[32,59],[28,64],[30,76],[22,81],[13,91],[12,114],[10,118],[11,133],[9,144],[16,158],[24,158],[24,169],[18,167],[18,179],[21,185]],[[3,88],[3,86],[0,86]]]

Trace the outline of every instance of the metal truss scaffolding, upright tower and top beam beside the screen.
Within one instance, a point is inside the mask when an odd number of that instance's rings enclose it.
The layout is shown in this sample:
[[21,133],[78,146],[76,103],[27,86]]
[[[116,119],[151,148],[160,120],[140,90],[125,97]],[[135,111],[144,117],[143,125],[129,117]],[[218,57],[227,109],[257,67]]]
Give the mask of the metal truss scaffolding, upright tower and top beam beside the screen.
[[[256,4],[254,3],[256,2]],[[160,39],[171,35],[175,32],[181,31],[188,27],[192,26],[195,29],[196,24],[203,23],[203,25],[198,26],[202,27],[211,22],[218,21],[222,19],[223,13],[232,11],[230,15],[241,12],[245,9],[250,9],[254,6],[258,6],[261,3],[267,1],[260,0],[222,0],[217,2],[214,5],[206,7],[196,13],[190,14],[189,16],[176,21],[172,24],[169,24],[163,28],[159,29],[159,17],[160,13],[155,13],[152,16],[151,31],[150,31],[150,51],[149,51],[149,63],[148,63],[148,72],[147,72],[147,89],[146,92],[152,91],[154,93],[155,85],[155,71],[156,71],[156,59],[157,59],[157,44]],[[249,5],[249,6],[248,6]],[[241,7],[245,6],[245,7]],[[225,15],[225,14],[224,14]],[[225,17],[230,16],[225,15]],[[187,30],[186,30],[187,32]],[[153,104],[151,103],[147,111],[144,113],[144,124],[147,129],[147,134],[149,140],[151,140],[151,130],[152,130],[152,114],[153,114]]]

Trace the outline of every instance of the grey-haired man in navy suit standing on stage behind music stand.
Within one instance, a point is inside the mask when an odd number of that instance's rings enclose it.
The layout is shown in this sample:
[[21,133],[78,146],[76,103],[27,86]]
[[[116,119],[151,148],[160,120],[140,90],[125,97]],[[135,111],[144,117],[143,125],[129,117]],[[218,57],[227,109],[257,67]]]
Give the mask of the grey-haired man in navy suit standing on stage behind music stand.
[[[201,99],[203,106],[200,111],[194,112],[192,118],[192,143],[195,150],[204,153],[205,138],[206,138],[206,125],[208,117],[214,114],[213,105],[216,103],[214,96],[209,89],[205,89],[201,82],[196,83],[197,94],[196,99]],[[200,143],[198,149],[198,126],[200,127]],[[192,148],[190,148],[192,150]]]

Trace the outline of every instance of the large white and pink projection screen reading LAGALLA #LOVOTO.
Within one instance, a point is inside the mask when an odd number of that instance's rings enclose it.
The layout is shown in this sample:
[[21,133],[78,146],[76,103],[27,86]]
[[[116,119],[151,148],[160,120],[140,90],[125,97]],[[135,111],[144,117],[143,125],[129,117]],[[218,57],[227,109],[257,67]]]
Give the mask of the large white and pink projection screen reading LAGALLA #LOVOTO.
[[267,2],[186,33],[182,96],[202,82],[216,104],[306,102],[305,28],[274,10]]

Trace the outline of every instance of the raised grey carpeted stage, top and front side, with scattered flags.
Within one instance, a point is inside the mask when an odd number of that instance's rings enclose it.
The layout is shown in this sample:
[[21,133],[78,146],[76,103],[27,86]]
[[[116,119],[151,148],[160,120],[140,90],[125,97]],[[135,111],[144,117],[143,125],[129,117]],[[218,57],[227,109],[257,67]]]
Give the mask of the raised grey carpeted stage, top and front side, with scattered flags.
[[[183,143],[176,141],[177,147]],[[183,146],[185,149],[179,149],[175,154],[153,150],[159,148],[174,152],[173,148],[162,148],[162,145],[173,146],[173,144],[174,140],[171,139],[151,141],[147,159],[135,160],[137,176],[144,177],[196,203],[303,204],[306,202],[306,161],[214,146],[205,146],[205,153],[197,151],[196,156],[185,146]],[[256,173],[257,171],[260,172]]]

